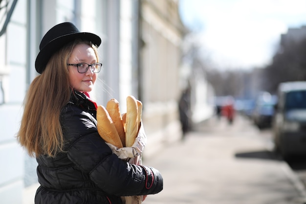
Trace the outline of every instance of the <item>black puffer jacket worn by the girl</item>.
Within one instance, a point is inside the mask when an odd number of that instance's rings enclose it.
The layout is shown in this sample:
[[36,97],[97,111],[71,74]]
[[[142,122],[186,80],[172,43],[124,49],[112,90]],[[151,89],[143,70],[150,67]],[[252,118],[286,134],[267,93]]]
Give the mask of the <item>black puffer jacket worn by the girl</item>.
[[35,204],[121,204],[120,196],[162,190],[160,173],[129,164],[114,154],[97,132],[96,105],[73,91],[61,112],[65,153],[37,157],[41,186]]

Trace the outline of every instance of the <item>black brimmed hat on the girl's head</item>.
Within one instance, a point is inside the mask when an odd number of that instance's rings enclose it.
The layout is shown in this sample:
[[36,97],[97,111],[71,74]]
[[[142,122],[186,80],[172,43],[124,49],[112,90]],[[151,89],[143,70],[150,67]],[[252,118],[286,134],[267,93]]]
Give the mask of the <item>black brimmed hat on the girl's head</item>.
[[44,35],[39,45],[40,52],[35,61],[36,71],[41,74],[50,57],[61,47],[75,39],[88,40],[96,46],[101,44],[101,38],[99,36],[93,33],[80,32],[72,23],[57,24]]

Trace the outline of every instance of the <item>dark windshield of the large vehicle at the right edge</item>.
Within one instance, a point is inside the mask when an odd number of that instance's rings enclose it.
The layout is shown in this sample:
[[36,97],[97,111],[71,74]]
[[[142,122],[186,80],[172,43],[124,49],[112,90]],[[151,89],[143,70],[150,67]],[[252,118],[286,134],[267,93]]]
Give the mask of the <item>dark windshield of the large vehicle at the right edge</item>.
[[286,95],[285,109],[306,109],[306,90],[288,92]]

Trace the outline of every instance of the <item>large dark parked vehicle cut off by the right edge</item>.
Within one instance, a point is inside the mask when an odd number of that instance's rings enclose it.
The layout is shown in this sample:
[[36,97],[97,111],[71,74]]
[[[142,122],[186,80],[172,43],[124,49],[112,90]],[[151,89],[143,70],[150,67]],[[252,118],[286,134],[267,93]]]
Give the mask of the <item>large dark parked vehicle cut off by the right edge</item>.
[[279,85],[273,135],[284,159],[306,155],[306,82]]

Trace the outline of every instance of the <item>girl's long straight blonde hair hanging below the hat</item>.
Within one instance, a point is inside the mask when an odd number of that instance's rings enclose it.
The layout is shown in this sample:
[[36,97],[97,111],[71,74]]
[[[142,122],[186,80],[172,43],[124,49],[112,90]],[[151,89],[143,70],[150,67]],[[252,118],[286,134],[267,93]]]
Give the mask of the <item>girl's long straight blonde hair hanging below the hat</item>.
[[55,157],[64,152],[60,113],[71,93],[67,62],[73,48],[81,43],[91,46],[98,59],[96,46],[76,40],[54,53],[43,73],[30,84],[17,139],[32,157],[41,154]]

